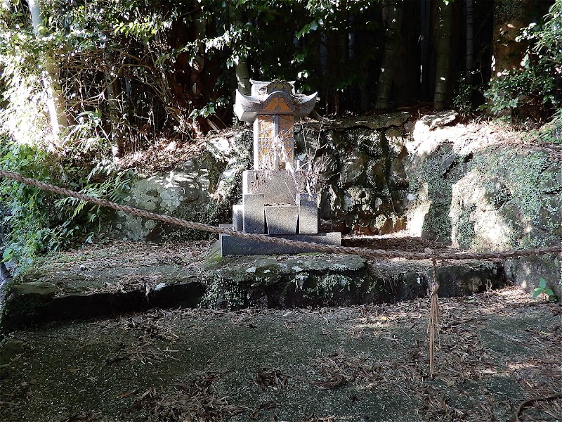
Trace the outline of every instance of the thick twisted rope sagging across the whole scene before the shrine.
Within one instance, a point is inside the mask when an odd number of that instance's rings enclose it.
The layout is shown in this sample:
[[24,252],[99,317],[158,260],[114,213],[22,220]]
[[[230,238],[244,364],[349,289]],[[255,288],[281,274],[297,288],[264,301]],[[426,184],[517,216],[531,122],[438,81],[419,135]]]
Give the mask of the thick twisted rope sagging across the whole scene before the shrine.
[[119,205],[109,200],[92,198],[91,196],[84,195],[83,193],[78,193],[75,191],[71,191],[70,189],[61,188],[60,186],[55,186],[53,184],[48,184],[45,183],[44,181],[23,177],[21,174],[18,173],[6,172],[5,170],[0,170],[0,177],[6,177],[8,179],[19,181],[22,184],[35,186],[44,191],[54,192],[54,193],[58,193],[59,195],[70,196],[71,198],[84,200],[88,203],[99,205],[100,207],[108,207],[117,211],[126,212],[132,215],[138,215],[139,217],[144,217],[148,219],[158,220],[164,223],[175,224],[177,226],[186,227],[188,229],[209,231],[211,233],[217,233],[217,234],[228,234],[230,236],[237,236],[240,238],[246,238],[253,241],[260,241],[265,243],[277,243],[278,245],[287,245],[296,248],[306,248],[309,250],[312,249],[312,250],[317,250],[318,252],[345,253],[351,255],[361,255],[363,257],[368,257],[368,258],[386,258],[386,259],[403,258],[405,260],[494,260],[494,259],[505,259],[511,257],[531,257],[531,256],[538,256],[538,255],[562,253],[562,245],[551,246],[550,248],[543,248],[543,249],[508,250],[504,252],[436,252],[436,251],[407,252],[403,250],[372,250],[367,248],[322,245],[320,243],[291,241],[285,238],[266,236],[263,234],[244,233],[242,231],[223,229],[221,227],[211,226],[209,224],[188,222],[185,219],[171,217],[169,215],[156,214],[155,212],[140,210],[135,207],[130,207],[129,205]]

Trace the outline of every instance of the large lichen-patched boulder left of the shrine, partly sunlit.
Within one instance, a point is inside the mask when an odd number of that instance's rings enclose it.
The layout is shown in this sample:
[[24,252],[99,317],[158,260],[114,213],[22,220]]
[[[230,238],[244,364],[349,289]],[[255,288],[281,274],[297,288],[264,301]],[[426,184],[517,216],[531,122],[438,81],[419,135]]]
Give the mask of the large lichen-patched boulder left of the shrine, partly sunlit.
[[[228,222],[232,205],[241,198],[242,171],[249,166],[251,132],[211,137],[199,156],[173,170],[139,176],[131,184],[125,204],[192,222]],[[133,241],[178,241],[207,238],[208,234],[117,212],[112,237]]]

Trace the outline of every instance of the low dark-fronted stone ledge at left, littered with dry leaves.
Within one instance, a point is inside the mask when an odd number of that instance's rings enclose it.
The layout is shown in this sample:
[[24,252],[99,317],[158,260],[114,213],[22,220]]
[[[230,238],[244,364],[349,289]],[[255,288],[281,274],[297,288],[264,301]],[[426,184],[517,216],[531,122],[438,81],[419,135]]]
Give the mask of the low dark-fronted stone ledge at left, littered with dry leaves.
[[79,319],[155,306],[197,306],[204,292],[199,277],[179,274],[173,265],[151,269],[151,274],[131,274],[130,268],[122,267],[103,271],[51,269],[37,276],[57,279],[58,286],[45,281],[14,283],[9,286],[0,314],[0,332],[53,319]]

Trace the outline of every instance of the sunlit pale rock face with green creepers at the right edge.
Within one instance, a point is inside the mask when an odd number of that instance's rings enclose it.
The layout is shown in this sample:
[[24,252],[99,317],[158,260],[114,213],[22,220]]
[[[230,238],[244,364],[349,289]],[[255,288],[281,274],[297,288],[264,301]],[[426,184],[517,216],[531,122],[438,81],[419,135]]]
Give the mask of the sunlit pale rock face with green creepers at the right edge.
[[532,148],[488,148],[495,139],[490,131],[415,125],[403,161],[409,233],[481,251],[559,244],[559,160]]

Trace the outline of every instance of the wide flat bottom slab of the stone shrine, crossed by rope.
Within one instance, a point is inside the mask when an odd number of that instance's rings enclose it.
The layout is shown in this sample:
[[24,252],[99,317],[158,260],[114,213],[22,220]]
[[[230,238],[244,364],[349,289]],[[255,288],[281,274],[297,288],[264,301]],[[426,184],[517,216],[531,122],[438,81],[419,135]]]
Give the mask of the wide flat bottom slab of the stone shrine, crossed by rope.
[[[341,233],[338,231],[319,234],[278,234],[273,237],[291,241],[320,243],[322,245],[341,245]],[[295,248],[291,245],[278,245],[250,239],[221,234],[221,255],[277,255],[302,252],[317,252],[312,248]]]

